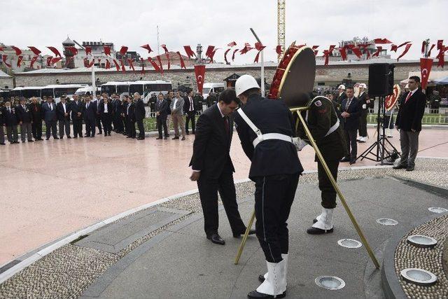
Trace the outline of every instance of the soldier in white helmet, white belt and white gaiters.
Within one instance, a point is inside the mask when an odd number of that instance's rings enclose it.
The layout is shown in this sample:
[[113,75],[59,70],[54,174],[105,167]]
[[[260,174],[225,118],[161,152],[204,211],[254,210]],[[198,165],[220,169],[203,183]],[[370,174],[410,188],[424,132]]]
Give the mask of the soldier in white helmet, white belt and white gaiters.
[[288,227],[299,176],[303,171],[293,144],[293,116],[280,100],[265,99],[255,78],[238,78],[235,91],[243,106],[235,113],[241,146],[251,160],[255,182],[255,233],[265,253],[267,274],[248,298],[286,295]]

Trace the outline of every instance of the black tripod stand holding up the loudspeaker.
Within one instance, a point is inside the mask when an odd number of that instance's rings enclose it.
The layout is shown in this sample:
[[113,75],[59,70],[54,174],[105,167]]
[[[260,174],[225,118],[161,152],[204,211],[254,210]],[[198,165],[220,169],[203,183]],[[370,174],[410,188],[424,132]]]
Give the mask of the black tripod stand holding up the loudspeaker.
[[[383,117],[381,118],[381,110],[383,112]],[[392,113],[390,118],[392,118]],[[384,97],[379,97],[379,103],[378,103],[378,117],[377,117],[377,141],[374,142],[369,148],[367,148],[364,153],[361,153],[356,160],[361,158],[361,161],[365,158],[371,161],[380,162],[380,165],[390,165],[389,162],[384,162],[384,160],[391,158],[393,153],[398,153],[397,149],[391,144],[391,141],[388,141],[386,137],[386,127],[384,120],[386,119],[386,101],[384,100]],[[382,126],[382,135],[379,134],[380,127],[381,127],[381,121],[383,122]],[[389,121],[390,123],[390,121]],[[391,146],[393,150],[388,150],[386,148],[386,144],[388,146]],[[370,158],[369,155],[372,155],[373,158]]]

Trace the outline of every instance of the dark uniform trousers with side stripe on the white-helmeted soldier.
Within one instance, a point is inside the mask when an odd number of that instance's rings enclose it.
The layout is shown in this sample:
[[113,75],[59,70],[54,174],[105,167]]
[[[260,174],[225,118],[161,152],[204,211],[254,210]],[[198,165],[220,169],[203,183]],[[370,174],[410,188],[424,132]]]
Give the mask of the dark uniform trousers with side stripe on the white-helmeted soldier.
[[299,174],[257,176],[255,181],[255,230],[269,263],[281,262],[288,253],[288,217],[299,183]]

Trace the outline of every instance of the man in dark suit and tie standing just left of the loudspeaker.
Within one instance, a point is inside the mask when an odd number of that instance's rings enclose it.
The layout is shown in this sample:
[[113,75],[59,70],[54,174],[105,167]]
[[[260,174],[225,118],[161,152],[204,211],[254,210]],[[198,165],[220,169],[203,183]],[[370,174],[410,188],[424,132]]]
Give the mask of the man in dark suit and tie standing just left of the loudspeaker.
[[[361,105],[359,99],[354,95],[353,88],[346,88],[347,98],[341,104],[341,116],[343,118],[345,141],[347,146],[347,156],[341,162],[350,162],[350,165],[356,163],[358,155],[358,145],[356,144],[356,135],[359,127],[359,116],[361,115]],[[351,151],[350,151],[351,148]]]

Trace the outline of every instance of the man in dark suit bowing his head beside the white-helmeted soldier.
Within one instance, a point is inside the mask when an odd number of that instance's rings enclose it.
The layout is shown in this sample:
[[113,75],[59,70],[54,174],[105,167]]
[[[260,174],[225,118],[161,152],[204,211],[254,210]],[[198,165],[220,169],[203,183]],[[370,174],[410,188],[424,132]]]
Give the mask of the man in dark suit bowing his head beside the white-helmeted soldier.
[[239,216],[233,182],[235,168],[230,158],[233,120],[229,116],[237,106],[235,91],[226,90],[217,104],[201,114],[197,120],[193,156],[190,161],[193,169],[190,179],[197,181],[199,188],[205,234],[211,242],[221,245],[224,245],[225,241],[218,235],[218,191],[233,236],[239,237],[246,231],[246,225]]

